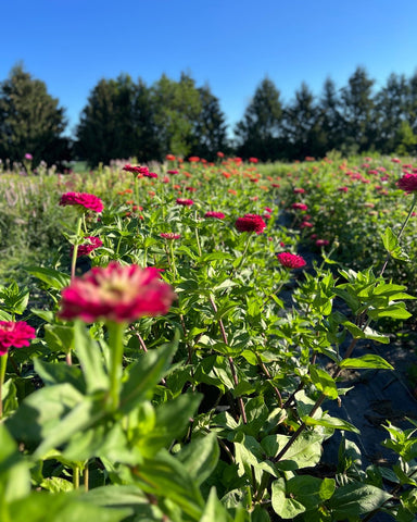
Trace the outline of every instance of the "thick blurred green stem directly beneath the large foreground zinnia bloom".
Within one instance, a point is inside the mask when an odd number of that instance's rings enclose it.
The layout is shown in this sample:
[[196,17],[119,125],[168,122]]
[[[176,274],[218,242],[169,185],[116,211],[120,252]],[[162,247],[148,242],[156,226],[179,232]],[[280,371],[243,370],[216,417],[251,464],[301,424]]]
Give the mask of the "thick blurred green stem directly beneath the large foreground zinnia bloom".
[[119,403],[121,382],[123,371],[123,333],[125,323],[106,324],[110,346],[110,408],[116,410]]

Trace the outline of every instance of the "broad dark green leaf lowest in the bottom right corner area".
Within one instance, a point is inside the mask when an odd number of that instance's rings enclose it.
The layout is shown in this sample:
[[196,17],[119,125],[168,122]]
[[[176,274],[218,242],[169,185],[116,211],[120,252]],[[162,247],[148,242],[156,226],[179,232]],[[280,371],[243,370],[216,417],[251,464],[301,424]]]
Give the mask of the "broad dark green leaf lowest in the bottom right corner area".
[[380,508],[392,495],[369,484],[348,484],[339,487],[328,501],[336,520],[361,517]]

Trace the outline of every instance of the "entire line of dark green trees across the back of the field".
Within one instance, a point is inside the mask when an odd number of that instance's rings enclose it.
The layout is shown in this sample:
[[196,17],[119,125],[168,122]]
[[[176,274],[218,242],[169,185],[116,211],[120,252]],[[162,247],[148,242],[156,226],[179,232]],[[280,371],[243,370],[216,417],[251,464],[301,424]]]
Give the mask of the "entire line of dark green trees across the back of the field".
[[358,66],[348,84],[331,78],[315,96],[303,83],[286,103],[274,82],[256,87],[242,119],[228,135],[219,99],[208,85],[198,86],[181,73],[162,75],[148,86],[128,74],[100,79],[81,111],[74,138],[64,136],[65,109],[22,65],[0,83],[0,159],[34,163],[86,160],[91,166],[112,159],[162,161],[167,153],[211,161],[218,151],[262,161],[344,154],[417,151],[417,73],[392,73],[375,90],[375,80]]

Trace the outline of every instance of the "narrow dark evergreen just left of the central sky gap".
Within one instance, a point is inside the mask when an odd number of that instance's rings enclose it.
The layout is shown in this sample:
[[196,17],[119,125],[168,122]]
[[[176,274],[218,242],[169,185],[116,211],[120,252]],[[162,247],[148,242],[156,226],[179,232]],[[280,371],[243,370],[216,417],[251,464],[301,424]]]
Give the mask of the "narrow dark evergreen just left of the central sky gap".
[[191,152],[213,161],[218,151],[227,152],[229,149],[227,125],[218,98],[211,92],[210,87],[200,87],[198,91],[201,111],[194,125]]

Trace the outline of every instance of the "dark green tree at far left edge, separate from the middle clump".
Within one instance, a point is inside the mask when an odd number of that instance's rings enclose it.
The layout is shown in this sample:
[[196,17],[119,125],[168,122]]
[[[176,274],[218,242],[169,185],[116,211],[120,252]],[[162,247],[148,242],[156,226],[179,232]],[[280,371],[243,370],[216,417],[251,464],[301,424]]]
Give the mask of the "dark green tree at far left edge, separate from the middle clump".
[[70,140],[62,136],[66,120],[59,100],[40,79],[16,65],[0,83],[0,158],[21,161],[25,153],[34,164],[70,159]]

